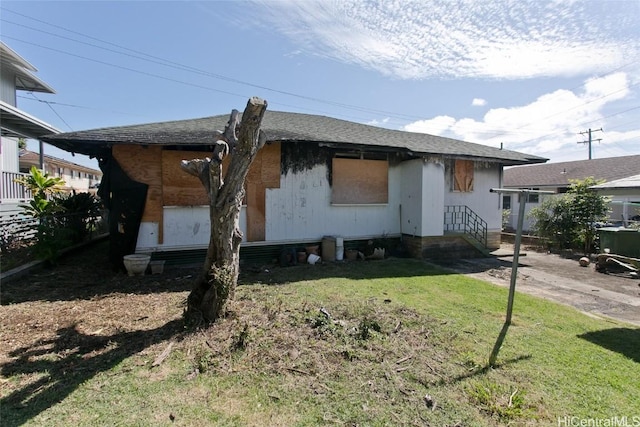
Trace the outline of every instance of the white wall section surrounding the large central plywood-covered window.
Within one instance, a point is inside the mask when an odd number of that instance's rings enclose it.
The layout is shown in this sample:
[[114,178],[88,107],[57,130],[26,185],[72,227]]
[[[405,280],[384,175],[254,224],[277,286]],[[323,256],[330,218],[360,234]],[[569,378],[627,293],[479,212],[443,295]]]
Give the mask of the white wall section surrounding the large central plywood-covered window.
[[386,204],[333,206],[326,166],[282,175],[280,188],[266,190],[265,238],[277,242],[398,234],[401,176],[400,167],[389,166]]

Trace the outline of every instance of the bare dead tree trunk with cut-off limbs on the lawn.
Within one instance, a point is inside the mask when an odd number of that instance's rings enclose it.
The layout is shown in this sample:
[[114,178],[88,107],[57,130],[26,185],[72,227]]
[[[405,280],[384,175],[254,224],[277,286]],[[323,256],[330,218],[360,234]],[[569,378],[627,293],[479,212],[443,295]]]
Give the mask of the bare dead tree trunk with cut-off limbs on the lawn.
[[[256,154],[265,143],[260,130],[267,102],[251,98],[238,123],[233,110],[224,132],[217,132],[212,157],[183,160],[182,169],[200,178],[209,194],[211,236],[202,274],[187,298],[185,317],[192,324],[211,323],[224,314],[238,282],[240,242],[239,218],[244,181]],[[222,161],[230,156],[224,179]]]

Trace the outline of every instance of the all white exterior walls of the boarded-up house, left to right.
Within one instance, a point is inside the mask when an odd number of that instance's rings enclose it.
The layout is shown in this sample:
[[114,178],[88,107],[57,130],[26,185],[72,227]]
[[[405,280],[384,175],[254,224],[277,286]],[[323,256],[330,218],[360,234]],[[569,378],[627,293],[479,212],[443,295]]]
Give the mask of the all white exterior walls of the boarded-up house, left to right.
[[[452,192],[449,181],[450,173],[442,162],[411,160],[389,166],[388,203],[332,205],[326,166],[281,175],[280,188],[265,190],[265,242],[251,244],[319,241],[328,235],[345,239],[400,233],[440,236],[443,208],[453,204],[470,206],[487,221],[489,230],[500,229],[499,197],[489,193],[490,188],[499,186],[498,166],[477,168],[471,193]],[[158,223],[142,223],[136,250],[205,247],[209,242],[208,209],[208,206],[166,206],[164,243],[158,243]],[[246,231],[245,208],[240,229]]]

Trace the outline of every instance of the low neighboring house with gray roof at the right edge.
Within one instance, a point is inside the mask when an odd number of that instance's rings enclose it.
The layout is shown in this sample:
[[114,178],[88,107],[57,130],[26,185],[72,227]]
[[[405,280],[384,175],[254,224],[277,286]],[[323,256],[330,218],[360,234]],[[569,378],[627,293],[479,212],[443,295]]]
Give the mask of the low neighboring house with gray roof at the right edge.
[[[545,190],[562,194],[567,191],[570,186],[569,180],[572,179],[581,180],[593,177],[597,180],[611,182],[637,174],[640,174],[640,155],[578,160],[505,169],[504,187]],[[628,221],[631,216],[635,215],[633,208],[625,202],[640,201],[640,191],[638,189],[630,190],[626,194],[611,194],[611,196],[612,203],[609,218],[612,222]],[[530,194],[525,213],[528,214],[532,208],[539,206],[543,197],[549,196]],[[511,210],[509,226],[515,228],[519,198],[510,194],[504,194],[502,198],[504,209]],[[530,228],[531,221],[525,216],[523,229],[529,230]]]

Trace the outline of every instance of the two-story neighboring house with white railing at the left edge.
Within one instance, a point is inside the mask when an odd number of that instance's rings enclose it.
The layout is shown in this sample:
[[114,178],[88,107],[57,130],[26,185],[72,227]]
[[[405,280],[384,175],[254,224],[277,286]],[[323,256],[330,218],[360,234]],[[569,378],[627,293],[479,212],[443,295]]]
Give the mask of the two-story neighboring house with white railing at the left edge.
[[[33,74],[35,71],[33,65],[0,42],[0,214],[20,211],[18,204],[30,198],[30,194],[14,182],[21,176],[18,139],[39,139],[42,135],[59,132],[16,107],[17,91],[55,93]],[[42,146],[40,148],[42,151]]]

